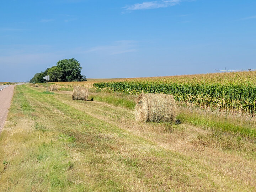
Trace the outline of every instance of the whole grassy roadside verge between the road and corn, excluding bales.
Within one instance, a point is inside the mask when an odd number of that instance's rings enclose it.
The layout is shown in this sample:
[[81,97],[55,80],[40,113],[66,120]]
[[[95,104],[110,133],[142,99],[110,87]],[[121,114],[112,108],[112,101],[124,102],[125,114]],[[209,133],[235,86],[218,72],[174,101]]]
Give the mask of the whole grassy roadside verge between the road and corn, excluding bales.
[[93,101],[74,101],[71,91],[45,90],[15,87],[0,191],[256,189],[250,116],[180,106],[179,124],[140,123],[136,95],[90,89]]

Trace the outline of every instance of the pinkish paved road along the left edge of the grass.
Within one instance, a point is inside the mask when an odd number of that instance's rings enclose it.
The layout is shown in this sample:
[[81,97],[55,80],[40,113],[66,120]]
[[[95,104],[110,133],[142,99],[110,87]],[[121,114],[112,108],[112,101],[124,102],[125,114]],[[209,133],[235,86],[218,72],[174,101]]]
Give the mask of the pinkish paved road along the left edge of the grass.
[[14,87],[15,85],[0,86],[0,132],[4,127],[4,123],[7,118],[7,113],[11,106]]

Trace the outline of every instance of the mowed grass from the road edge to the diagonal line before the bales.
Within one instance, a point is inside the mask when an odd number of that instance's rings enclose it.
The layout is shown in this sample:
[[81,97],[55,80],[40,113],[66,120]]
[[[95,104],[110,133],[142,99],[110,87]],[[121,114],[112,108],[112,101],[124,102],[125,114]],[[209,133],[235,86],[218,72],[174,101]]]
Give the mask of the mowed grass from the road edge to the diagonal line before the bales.
[[[86,110],[92,110],[94,104],[81,110],[66,102],[66,95],[42,92],[27,85],[15,88],[9,122],[0,135],[0,191],[216,191],[255,187],[253,178],[241,182],[218,175],[219,170],[189,155],[160,147],[154,140],[92,116],[95,111]],[[70,98],[70,102],[82,106],[81,101]]]

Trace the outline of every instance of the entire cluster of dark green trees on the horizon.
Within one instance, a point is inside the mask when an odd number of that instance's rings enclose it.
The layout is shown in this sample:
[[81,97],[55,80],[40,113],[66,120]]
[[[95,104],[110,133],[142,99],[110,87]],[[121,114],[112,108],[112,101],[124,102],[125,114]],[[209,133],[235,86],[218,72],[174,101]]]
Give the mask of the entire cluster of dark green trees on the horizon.
[[31,83],[42,83],[46,80],[44,76],[50,75],[51,82],[57,81],[87,81],[86,76],[81,75],[82,67],[80,63],[74,59],[63,59],[57,62],[56,66],[47,68],[45,71],[36,73],[30,80]]

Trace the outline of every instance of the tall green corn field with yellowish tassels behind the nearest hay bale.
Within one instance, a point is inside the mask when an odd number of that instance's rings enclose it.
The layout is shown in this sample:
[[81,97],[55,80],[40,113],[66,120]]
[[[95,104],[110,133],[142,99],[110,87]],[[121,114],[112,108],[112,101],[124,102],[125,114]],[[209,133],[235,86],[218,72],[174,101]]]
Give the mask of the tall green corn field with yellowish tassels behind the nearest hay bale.
[[179,103],[202,108],[252,115],[256,112],[255,71],[137,78],[121,82],[96,82],[94,86],[127,94],[171,94]]

